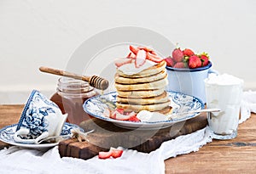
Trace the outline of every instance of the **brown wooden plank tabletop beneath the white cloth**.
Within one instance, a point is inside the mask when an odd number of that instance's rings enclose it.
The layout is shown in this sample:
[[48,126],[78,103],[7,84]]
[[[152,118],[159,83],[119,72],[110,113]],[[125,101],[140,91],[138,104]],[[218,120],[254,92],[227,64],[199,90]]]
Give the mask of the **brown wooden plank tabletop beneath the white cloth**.
[[[23,105],[0,105],[0,129],[19,121]],[[0,149],[8,144],[0,141]],[[256,115],[238,128],[229,141],[213,140],[199,151],[165,161],[166,173],[255,173]]]

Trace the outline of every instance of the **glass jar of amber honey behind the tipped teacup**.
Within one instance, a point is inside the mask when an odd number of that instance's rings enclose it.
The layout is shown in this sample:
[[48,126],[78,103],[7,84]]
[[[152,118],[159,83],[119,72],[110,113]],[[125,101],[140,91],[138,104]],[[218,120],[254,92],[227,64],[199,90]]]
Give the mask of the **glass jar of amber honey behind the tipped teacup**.
[[61,77],[58,80],[56,93],[50,98],[57,104],[62,114],[67,113],[67,122],[79,125],[82,121],[90,119],[84,109],[84,101],[98,95],[94,87],[87,81]]

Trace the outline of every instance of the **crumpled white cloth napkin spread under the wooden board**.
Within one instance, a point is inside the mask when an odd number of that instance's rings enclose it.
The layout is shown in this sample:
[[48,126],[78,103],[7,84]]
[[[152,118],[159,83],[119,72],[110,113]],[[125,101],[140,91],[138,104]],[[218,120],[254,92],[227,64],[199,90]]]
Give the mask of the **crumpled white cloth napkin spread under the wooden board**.
[[[241,102],[241,121],[256,112],[256,92],[244,92]],[[42,152],[35,149],[10,147],[0,151],[1,173],[165,173],[164,160],[195,152],[206,143],[212,142],[208,126],[189,135],[179,136],[162,143],[159,149],[146,154],[124,149],[118,159],[100,160],[98,156],[90,160],[60,157],[58,147]],[[116,147],[114,147],[116,148]],[[119,147],[120,148],[120,147]]]

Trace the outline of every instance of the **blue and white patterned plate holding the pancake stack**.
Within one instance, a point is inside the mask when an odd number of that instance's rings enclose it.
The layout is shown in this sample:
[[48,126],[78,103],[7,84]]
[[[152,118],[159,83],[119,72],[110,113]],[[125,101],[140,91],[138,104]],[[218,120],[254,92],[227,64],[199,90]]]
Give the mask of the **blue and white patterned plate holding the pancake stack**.
[[[191,110],[199,110],[204,108],[204,104],[201,102],[201,99],[199,98],[195,98],[193,96],[189,96],[183,93],[167,93],[169,94],[169,98],[171,99],[172,114],[187,112]],[[160,129],[172,126],[177,122],[187,121],[191,118],[194,118],[197,115],[200,115],[200,113],[180,115],[179,117],[165,121],[118,121],[103,115],[105,109],[108,109],[109,107],[115,107],[116,96],[117,93],[112,92],[96,96],[93,98],[89,98],[84,102],[84,111],[98,119],[101,119],[103,121],[110,121],[116,126],[128,129]]]

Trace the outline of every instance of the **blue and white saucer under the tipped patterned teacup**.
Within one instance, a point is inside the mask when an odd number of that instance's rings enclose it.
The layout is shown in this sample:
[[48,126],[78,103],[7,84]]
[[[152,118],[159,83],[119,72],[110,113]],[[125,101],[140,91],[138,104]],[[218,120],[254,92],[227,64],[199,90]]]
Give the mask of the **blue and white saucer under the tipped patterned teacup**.
[[[40,143],[40,144],[16,143],[14,140],[14,135],[15,135],[17,126],[18,124],[3,127],[3,129],[0,130],[0,141],[4,143],[9,143],[11,145],[20,146],[23,148],[29,148],[29,149],[46,149],[46,148],[51,148],[55,145],[58,145],[58,143]],[[79,126],[66,122],[62,128],[61,135],[71,135],[72,134],[71,130],[74,128],[79,128],[80,131],[84,132],[84,130],[81,129]]]

